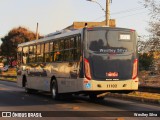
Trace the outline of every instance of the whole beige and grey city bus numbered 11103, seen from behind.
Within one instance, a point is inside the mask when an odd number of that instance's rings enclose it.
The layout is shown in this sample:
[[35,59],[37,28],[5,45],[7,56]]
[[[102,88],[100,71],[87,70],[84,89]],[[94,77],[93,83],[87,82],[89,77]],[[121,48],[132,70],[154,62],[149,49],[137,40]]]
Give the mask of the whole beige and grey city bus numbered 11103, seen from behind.
[[17,83],[26,92],[48,91],[53,99],[138,90],[137,34],[133,29],[84,27],[21,43]]

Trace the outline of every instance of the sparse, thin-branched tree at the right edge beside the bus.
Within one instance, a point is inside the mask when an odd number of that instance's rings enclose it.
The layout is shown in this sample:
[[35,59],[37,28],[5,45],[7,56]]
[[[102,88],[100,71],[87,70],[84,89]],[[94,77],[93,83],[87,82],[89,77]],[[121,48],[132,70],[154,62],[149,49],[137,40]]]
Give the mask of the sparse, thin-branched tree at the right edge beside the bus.
[[140,70],[154,69],[160,56],[160,1],[143,0],[143,5],[149,10],[150,21],[147,31],[149,36],[140,36],[138,41]]

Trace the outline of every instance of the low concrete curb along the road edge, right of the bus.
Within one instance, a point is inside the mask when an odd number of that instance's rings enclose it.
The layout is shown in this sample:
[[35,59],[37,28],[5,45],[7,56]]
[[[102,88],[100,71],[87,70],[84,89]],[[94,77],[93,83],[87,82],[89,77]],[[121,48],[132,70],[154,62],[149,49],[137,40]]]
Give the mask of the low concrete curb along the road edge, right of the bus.
[[134,101],[139,101],[142,103],[153,103],[153,104],[159,104],[160,105],[160,100],[157,99],[148,99],[148,98],[142,98],[142,97],[136,97],[136,96],[128,96],[126,94],[108,94],[107,96],[114,97],[114,98],[119,98],[123,100],[134,100]]

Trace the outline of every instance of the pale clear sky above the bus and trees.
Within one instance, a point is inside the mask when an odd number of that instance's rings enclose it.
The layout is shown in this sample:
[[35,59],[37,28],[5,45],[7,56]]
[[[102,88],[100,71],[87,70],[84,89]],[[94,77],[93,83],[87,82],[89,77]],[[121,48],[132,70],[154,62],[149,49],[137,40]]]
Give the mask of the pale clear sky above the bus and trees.
[[[137,30],[147,35],[150,19],[143,0],[112,0],[111,19],[116,26]],[[97,0],[105,9],[106,0]],[[74,21],[103,21],[105,12],[95,2],[86,0],[0,0],[0,38],[16,27],[22,26],[46,35],[61,30]],[[1,43],[1,42],[0,42]]]

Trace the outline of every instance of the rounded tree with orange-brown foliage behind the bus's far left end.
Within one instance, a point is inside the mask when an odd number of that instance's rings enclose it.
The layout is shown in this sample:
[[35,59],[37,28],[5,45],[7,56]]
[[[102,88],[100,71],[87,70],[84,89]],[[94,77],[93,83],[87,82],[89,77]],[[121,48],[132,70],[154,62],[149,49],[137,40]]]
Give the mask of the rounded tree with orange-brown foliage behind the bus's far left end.
[[1,53],[8,60],[17,58],[17,45],[36,39],[36,34],[24,27],[14,28],[2,38]]

